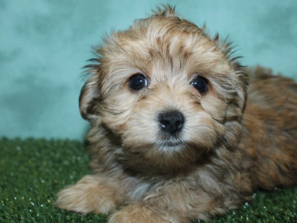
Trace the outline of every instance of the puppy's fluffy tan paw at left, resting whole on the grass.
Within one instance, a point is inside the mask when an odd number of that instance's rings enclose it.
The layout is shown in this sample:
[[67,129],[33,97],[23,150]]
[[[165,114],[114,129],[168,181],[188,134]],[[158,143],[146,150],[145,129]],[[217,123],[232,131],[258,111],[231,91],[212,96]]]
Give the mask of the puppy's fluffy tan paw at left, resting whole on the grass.
[[93,175],[84,176],[75,185],[61,190],[57,197],[56,207],[83,214],[107,214],[119,202],[116,190]]

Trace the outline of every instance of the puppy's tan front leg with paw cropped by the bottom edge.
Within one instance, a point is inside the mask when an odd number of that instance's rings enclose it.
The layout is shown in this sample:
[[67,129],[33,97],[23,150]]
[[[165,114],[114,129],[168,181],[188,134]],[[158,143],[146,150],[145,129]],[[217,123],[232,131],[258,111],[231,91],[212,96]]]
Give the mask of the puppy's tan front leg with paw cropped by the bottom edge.
[[140,203],[130,204],[114,213],[109,223],[188,223],[208,220],[210,216],[224,214],[242,202],[236,191],[206,193],[205,190],[172,183],[151,191]]

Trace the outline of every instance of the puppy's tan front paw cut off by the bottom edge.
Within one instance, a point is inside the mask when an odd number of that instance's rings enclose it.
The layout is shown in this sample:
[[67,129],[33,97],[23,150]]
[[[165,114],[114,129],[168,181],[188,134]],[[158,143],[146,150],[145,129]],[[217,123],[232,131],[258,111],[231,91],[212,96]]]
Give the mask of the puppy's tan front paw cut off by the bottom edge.
[[175,213],[168,213],[145,204],[130,204],[114,213],[108,223],[190,223]]

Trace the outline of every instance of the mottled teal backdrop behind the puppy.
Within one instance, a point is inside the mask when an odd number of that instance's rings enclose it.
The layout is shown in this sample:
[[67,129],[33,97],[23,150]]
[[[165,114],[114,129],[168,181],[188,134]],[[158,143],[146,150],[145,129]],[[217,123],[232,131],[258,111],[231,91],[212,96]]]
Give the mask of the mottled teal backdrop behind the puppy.
[[83,139],[78,97],[91,46],[160,3],[229,35],[243,64],[297,79],[296,0],[0,0],[0,136]]

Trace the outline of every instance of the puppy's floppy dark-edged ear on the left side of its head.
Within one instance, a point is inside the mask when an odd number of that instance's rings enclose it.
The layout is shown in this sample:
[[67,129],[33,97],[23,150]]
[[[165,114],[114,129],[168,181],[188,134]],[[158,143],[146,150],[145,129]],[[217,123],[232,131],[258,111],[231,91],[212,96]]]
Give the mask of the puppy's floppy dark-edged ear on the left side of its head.
[[82,117],[91,123],[99,118],[97,107],[101,102],[98,75],[91,76],[82,87],[79,110]]

